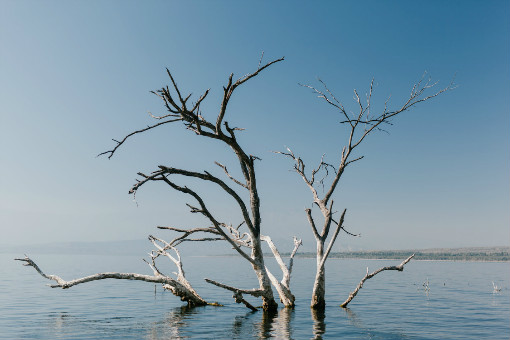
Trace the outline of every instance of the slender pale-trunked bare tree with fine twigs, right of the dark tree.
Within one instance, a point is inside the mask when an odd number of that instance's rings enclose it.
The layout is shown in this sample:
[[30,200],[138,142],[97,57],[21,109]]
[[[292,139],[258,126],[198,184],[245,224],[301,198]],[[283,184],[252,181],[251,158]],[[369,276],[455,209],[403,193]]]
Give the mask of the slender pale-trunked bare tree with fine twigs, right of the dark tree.
[[[372,91],[374,88],[374,80],[372,79],[370,83],[370,90],[368,91],[366,95],[366,102],[364,102],[361,97],[358,95],[358,92],[354,90],[354,98],[357,103],[357,113],[350,113],[348,112],[342,103],[336,99],[336,97],[333,95],[333,93],[328,89],[326,84],[322,82],[319,79],[320,83],[322,84],[324,90],[316,89],[315,87],[309,86],[309,85],[303,85],[304,87],[307,87],[311,89],[319,98],[323,99],[327,104],[332,106],[335,110],[337,110],[340,115],[342,116],[341,124],[346,124],[348,126],[348,138],[347,143],[342,148],[342,152],[340,155],[340,161],[338,163],[338,166],[333,166],[332,164],[329,164],[324,161],[324,155],[322,156],[318,166],[312,171],[307,174],[305,172],[305,163],[304,161],[299,157],[296,156],[289,148],[287,148],[287,151],[285,152],[277,152],[279,154],[282,154],[286,157],[291,158],[295,164],[294,164],[294,170],[297,172],[305,184],[308,186],[310,191],[312,192],[313,196],[313,204],[316,205],[323,217],[322,221],[322,230],[319,233],[315,220],[312,216],[312,209],[305,209],[306,216],[308,219],[308,222],[311,226],[313,235],[315,237],[316,243],[317,243],[317,270],[315,274],[315,281],[313,286],[313,292],[312,292],[312,301],[311,301],[311,307],[314,309],[324,309],[326,306],[326,301],[324,299],[325,296],[325,263],[326,260],[331,252],[331,249],[333,247],[333,244],[335,243],[337,236],[340,232],[340,230],[345,231],[347,234],[352,236],[359,236],[352,234],[348,232],[344,227],[344,218],[346,210],[343,210],[342,215],[339,219],[335,219],[333,217],[334,211],[333,211],[333,193],[337,189],[338,183],[340,181],[340,178],[345,172],[345,169],[352,163],[361,160],[364,156],[355,156],[354,151],[357,149],[357,147],[365,140],[365,138],[370,135],[374,131],[385,131],[383,127],[386,125],[392,125],[392,119],[401,114],[402,112],[408,111],[413,106],[427,101],[429,99],[432,99],[434,97],[437,97],[441,93],[448,91],[454,87],[453,82],[450,83],[446,88],[443,88],[441,90],[438,90],[436,92],[433,92],[431,94],[428,94],[428,92],[437,84],[432,83],[430,78],[428,80],[425,80],[424,77],[421,78],[421,80],[416,83],[412,90],[411,94],[408,97],[408,99],[398,108],[390,110],[388,108],[388,100],[386,100],[384,104],[384,108],[381,113],[379,114],[373,114],[371,111],[372,109]],[[323,174],[323,177],[319,180],[319,185],[324,188],[324,181],[326,177],[333,173],[334,177],[331,181],[329,187],[327,190],[325,190],[325,194],[323,194],[322,197],[320,197],[320,194],[317,190],[317,183],[316,183],[316,177],[321,172]],[[333,236],[330,238],[329,244],[326,248],[326,241],[328,239],[331,225],[336,225],[335,231],[333,233]]]

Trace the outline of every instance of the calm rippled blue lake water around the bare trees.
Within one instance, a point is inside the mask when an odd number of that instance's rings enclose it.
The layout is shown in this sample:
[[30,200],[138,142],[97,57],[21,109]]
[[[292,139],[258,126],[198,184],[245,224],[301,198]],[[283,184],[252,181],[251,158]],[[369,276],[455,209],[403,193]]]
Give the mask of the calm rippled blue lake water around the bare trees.
[[[509,339],[509,263],[411,261],[403,272],[368,280],[349,309],[339,306],[366,272],[391,260],[327,263],[327,308],[309,308],[315,261],[296,259],[291,287],[296,309],[249,312],[209,277],[242,288],[256,280],[230,257],[185,257],[197,291],[224,307],[190,309],[154,284],[104,280],[52,289],[31,267],[0,254],[1,339]],[[31,255],[43,271],[71,279],[100,271],[150,274],[139,257]],[[272,259],[268,259],[271,262]],[[272,272],[277,268],[271,266]],[[170,264],[164,272],[174,270]],[[429,291],[423,289],[428,279]],[[492,281],[502,287],[493,294]],[[260,305],[258,300],[250,300]]]

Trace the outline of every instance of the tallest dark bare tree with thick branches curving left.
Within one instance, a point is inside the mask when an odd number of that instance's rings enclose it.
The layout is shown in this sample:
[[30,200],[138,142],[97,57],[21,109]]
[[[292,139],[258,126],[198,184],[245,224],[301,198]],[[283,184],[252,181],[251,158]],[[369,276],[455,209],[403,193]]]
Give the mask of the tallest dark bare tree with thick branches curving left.
[[[262,241],[264,237],[261,234],[260,197],[257,190],[255,173],[255,162],[259,160],[259,158],[247,153],[243,149],[237,139],[238,131],[243,129],[230,126],[229,123],[225,120],[225,116],[227,114],[229,101],[234,94],[234,91],[239,86],[256,77],[258,74],[260,74],[260,72],[269,66],[282,60],[283,58],[276,59],[265,65],[261,65],[259,62],[259,66],[255,72],[249,73],[236,81],[233,80],[234,76],[231,74],[227,85],[223,88],[223,99],[221,101],[219,112],[217,113],[214,120],[209,120],[206,118],[200,110],[200,106],[207,97],[209,90],[205,91],[196,100],[196,102],[190,103],[189,99],[191,94],[187,96],[182,95],[181,89],[177,86],[177,83],[175,82],[172,74],[167,69],[168,76],[172,82],[172,87],[170,88],[166,86],[158,91],[154,91],[153,93],[163,101],[163,104],[168,112],[162,116],[154,116],[151,114],[154,119],[159,121],[158,123],[128,134],[122,140],[115,141],[117,144],[112,150],[102,153],[102,155],[107,155],[108,158],[111,158],[118,150],[118,148],[129,137],[174,122],[182,122],[186,129],[194,132],[196,135],[206,137],[209,140],[219,141],[228,146],[234,152],[237,158],[243,176],[242,179],[234,178],[227,170],[227,167],[223,164],[216,162],[216,165],[223,169],[226,176],[235,185],[240,187],[240,190],[247,191],[249,197],[248,202],[245,202],[245,200],[241,198],[242,195],[234,190],[233,187],[229,186],[225,181],[212,175],[208,171],[196,172],[164,165],[160,165],[157,170],[150,174],[139,173],[141,179],[138,180],[135,185],[133,185],[130,193],[136,195],[137,190],[139,190],[144,184],[148,182],[161,182],[168,185],[170,188],[182,192],[194,199],[196,202],[195,204],[187,204],[191,213],[203,215],[208,223],[210,223],[210,226],[205,228],[189,229],[168,227],[167,229],[181,233],[179,237],[177,237],[169,244],[176,245],[184,241],[227,241],[240,256],[242,256],[251,264],[258,279],[259,287],[256,289],[241,289],[228,286],[226,284],[220,284],[213,280],[208,280],[208,282],[233,291],[234,298],[237,302],[243,302],[243,294],[261,297],[264,310],[275,310],[277,308],[277,304],[273,296],[273,290],[271,288],[272,283],[275,284],[278,292],[280,293],[280,297],[283,303],[288,307],[292,307],[294,305],[294,298],[291,296],[288,287],[288,282],[290,279],[290,268],[286,269],[285,266],[282,267],[282,271],[284,272],[284,280],[278,282],[277,280],[273,279],[274,277],[268,272],[264,264],[264,255],[262,251]],[[238,209],[242,216],[242,223],[240,223],[237,228],[234,228],[231,224],[218,220],[196,190],[191,189],[186,185],[177,183],[179,177],[198,179],[216,185],[220,191],[227,194],[232,199],[233,204],[236,206],[236,209]],[[196,233],[210,234],[210,237],[194,238]],[[264,240],[267,241],[267,239]],[[279,257],[277,257],[277,260],[278,259]],[[288,278],[285,278],[286,272],[289,272],[289,275],[287,275]]]

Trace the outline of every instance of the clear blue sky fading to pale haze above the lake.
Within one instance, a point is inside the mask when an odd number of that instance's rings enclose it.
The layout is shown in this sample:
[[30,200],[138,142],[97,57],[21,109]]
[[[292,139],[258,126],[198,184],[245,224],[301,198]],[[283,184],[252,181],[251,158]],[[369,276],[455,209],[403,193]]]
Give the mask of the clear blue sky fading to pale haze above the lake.
[[[508,1],[7,1],[0,0],[0,244],[144,239],[157,225],[206,226],[189,197],[157,183],[136,202],[137,173],[158,165],[239,174],[224,145],[171,124],[137,135],[108,160],[112,138],[163,114],[150,93],[169,83],[214,120],[222,86],[285,57],[239,88],[226,120],[257,163],[262,232],[314,239],[312,197],[290,147],[311,168],[338,164],[341,116],[299,84],[322,79],[348,110],[374,78],[374,110],[401,105],[424,72],[457,87],[370,135],[336,190],[347,208],[336,250],[510,244]],[[196,189],[220,218],[239,213],[210,185]],[[158,235],[170,238],[168,234]],[[202,247],[204,245],[201,245]],[[207,246],[207,245],[206,245]],[[283,247],[285,248],[285,247]]]

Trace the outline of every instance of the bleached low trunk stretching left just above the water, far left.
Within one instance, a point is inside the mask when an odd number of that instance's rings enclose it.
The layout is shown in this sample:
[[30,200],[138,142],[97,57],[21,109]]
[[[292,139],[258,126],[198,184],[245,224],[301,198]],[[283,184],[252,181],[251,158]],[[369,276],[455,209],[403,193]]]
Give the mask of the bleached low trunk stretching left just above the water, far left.
[[[68,289],[73,286],[79,285],[81,283],[104,280],[104,279],[118,279],[118,280],[139,280],[145,282],[152,283],[161,283],[163,288],[169,290],[175,296],[181,298],[182,301],[186,301],[189,306],[204,306],[208,303],[193,289],[191,284],[188,282],[184,275],[184,270],[182,268],[181,256],[177,248],[169,245],[167,242],[160,240],[154,236],[149,236],[149,241],[156,247],[156,250],[153,250],[149,255],[151,257],[151,262],[144,260],[149,267],[153,271],[153,275],[144,275],[138,273],[117,273],[117,272],[109,272],[109,273],[98,273],[89,276],[85,276],[82,278],[66,281],[57,275],[48,275],[45,274],[39,266],[30,259],[27,255],[24,258],[15,259],[17,261],[25,262],[25,266],[33,267],[42,277],[55,281],[56,284],[50,285],[51,288],[62,288]],[[175,256],[171,255],[168,251],[173,250],[175,252]],[[171,260],[175,266],[177,267],[176,278],[172,278],[170,276],[164,275],[159,271],[156,267],[156,259],[159,256],[165,256],[169,260]]]

